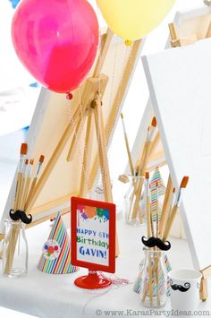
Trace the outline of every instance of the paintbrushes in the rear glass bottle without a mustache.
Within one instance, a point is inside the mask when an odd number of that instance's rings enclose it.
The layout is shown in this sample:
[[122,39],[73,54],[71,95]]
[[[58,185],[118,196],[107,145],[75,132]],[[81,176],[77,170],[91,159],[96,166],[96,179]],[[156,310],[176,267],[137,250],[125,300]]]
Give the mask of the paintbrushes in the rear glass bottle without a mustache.
[[[131,224],[142,224],[144,222],[144,212],[141,211],[140,202],[143,197],[143,185],[145,179],[145,172],[148,167],[148,159],[150,153],[152,152],[156,138],[154,138],[156,130],[156,117],[153,117],[151,125],[148,126],[147,139],[144,143],[141,159],[137,168],[133,167],[131,159],[131,150],[129,147],[128,137],[125,129],[125,125],[122,117],[122,127],[124,132],[124,139],[127,149],[127,154],[129,158],[130,170],[131,170],[131,185],[132,191],[129,197],[129,203],[127,204],[126,219],[128,223]],[[155,142],[154,142],[155,141]]]

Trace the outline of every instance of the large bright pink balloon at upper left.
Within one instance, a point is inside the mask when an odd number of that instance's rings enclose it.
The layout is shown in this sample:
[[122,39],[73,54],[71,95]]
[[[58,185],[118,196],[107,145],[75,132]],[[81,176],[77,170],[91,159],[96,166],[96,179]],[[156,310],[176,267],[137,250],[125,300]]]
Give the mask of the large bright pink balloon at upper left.
[[69,92],[94,63],[97,16],[87,0],[22,0],[13,16],[13,46],[44,86]]

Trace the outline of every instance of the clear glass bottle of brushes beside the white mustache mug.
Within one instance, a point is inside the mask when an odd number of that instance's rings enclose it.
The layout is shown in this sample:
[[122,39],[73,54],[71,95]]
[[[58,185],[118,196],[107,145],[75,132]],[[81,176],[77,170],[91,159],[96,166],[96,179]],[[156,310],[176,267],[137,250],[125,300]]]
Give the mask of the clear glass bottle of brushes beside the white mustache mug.
[[140,300],[145,307],[159,308],[167,299],[167,271],[165,266],[166,252],[145,249],[145,259],[140,271]]

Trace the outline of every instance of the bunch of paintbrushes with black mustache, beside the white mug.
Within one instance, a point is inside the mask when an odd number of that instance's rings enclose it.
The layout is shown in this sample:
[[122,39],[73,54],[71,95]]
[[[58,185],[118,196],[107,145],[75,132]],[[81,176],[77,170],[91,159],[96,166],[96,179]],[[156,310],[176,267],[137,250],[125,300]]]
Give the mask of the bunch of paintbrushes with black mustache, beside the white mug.
[[[161,273],[159,272],[159,262],[162,255],[162,251],[167,251],[171,244],[167,241],[173,226],[173,220],[177,214],[181,203],[181,193],[186,188],[189,177],[184,176],[181,180],[180,188],[175,192],[173,188],[171,177],[169,176],[168,184],[165,191],[165,201],[162,208],[162,213],[156,212],[156,222],[153,222],[152,213],[150,211],[150,191],[149,191],[149,175],[146,172],[145,179],[145,200],[146,200],[146,213],[147,213],[147,228],[148,238],[142,237],[142,243],[148,247],[149,255],[151,256],[148,260],[148,279],[145,281],[144,287],[141,291],[141,300],[143,303],[148,302],[151,307],[160,305],[160,294],[159,294],[159,282]],[[158,191],[158,185],[157,185]],[[158,199],[158,193],[157,193]],[[156,285],[156,288],[155,288]]]

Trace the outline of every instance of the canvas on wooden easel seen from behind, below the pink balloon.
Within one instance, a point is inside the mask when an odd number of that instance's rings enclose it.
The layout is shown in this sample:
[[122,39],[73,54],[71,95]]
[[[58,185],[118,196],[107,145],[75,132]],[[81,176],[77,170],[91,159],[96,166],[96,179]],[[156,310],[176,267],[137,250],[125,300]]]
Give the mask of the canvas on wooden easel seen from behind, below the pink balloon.
[[[30,158],[37,160],[41,153],[45,155],[29,203],[33,217],[30,226],[54,217],[57,211],[62,214],[70,211],[71,196],[88,195],[99,168],[104,179],[105,200],[112,202],[106,148],[139,59],[142,41],[134,41],[129,47],[107,30],[100,43],[96,62],[80,88],[72,92],[72,100],[64,94],[41,90],[27,140]],[[89,116],[90,113],[94,115]],[[2,217],[2,237],[14,191],[15,180]]]

